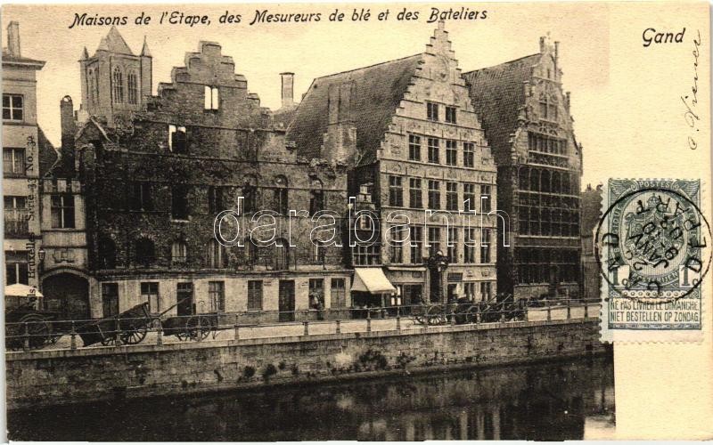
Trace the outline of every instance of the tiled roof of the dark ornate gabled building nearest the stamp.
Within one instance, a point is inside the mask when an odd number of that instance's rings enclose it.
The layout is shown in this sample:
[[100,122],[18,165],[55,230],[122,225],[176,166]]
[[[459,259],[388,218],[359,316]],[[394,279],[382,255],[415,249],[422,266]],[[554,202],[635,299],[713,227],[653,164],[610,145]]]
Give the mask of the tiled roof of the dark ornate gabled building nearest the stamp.
[[510,135],[518,126],[520,107],[525,104],[523,82],[541,54],[532,54],[495,67],[464,73],[475,112],[483,123],[488,144],[496,159],[510,156]]

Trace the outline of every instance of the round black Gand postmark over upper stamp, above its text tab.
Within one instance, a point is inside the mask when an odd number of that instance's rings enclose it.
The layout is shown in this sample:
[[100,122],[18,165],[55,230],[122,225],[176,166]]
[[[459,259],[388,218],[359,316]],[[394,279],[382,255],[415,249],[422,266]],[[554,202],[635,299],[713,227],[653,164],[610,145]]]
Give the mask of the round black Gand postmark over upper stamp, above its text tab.
[[699,182],[614,185],[594,236],[594,254],[609,290],[604,296],[668,302],[700,295],[711,263],[711,232],[694,202]]

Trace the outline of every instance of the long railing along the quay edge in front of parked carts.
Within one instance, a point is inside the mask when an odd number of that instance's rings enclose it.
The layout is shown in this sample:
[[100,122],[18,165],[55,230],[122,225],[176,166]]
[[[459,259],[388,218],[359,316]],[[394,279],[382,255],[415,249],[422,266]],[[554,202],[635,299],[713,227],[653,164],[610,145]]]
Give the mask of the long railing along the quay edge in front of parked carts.
[[135,311],[91,320],[44,319],[36,312],[5,323],[8,351],[118,347],[243,338],[409,331],[438,326],[586,320],[599,300],[421,303],[396,306],[311,308],[295,311],[203,312],[159,316]]

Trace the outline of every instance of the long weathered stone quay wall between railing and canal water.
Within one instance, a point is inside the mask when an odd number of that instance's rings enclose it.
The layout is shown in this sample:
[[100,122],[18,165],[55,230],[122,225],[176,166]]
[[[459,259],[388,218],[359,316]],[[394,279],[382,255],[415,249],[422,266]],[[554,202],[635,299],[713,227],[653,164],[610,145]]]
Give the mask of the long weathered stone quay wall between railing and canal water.
[[488,366],[603,351],[598,320],[6,354],[10,409]]

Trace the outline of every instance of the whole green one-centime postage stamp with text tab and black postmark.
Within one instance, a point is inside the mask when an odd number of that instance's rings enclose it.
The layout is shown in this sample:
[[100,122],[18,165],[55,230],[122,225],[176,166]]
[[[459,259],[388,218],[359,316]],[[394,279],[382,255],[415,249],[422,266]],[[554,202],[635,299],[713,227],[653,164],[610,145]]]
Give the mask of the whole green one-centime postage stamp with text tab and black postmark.
[[602,341],[697,341],[710,226],[700,180],[610,179],[595,232]]

